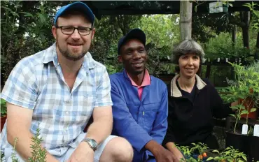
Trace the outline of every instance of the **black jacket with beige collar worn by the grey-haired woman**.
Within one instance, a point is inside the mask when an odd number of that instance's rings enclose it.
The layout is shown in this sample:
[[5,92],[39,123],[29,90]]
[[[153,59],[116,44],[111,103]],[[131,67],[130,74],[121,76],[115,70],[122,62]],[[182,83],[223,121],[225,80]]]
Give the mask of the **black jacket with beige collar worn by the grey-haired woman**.
[[163,143],[191,145],[192,142],[203,142],[209,146],[207,140],[211,139],[213,117],[223,118],[231,114],[230,104],[223,104],[209,80],[202,80],[198,75],[195,76],[195,99],[192,102],[182,96],[181,90],[176,85],[177,78],[179,75],[176,75],[167,86],[169,115],[167,134]]

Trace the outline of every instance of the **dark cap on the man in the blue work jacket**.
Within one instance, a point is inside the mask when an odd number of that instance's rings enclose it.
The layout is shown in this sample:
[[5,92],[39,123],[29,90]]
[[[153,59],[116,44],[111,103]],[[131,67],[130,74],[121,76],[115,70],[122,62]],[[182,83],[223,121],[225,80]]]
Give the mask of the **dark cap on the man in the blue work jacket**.
[[141,29],[135,28],[135,29],[132,29],[131,31],[129,31],[129,33],[127,33],[125,36],[120,38],[120,40],[118,42],[118,54],[120,54],[120,47],[124,43],[126,43],[127,40],[130,40],[133,38],[140,40],[144,45],[146,45],[146,34]]

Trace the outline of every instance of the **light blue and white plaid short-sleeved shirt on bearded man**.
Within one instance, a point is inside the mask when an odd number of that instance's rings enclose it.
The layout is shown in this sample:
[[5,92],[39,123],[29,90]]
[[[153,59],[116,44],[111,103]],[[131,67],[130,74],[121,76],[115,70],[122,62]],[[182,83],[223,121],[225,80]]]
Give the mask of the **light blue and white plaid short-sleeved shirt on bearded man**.
[[[40,128],[43,147],[56,156],[76,147],[95,107],[112,105],[111,84],[105,66],[85,54],[73,89],[64,80],[56,44],[22,59],[13,68],[1,94],[9,103],[33,110],[31,133]],[[6,124],[1,150],[7,142]]]

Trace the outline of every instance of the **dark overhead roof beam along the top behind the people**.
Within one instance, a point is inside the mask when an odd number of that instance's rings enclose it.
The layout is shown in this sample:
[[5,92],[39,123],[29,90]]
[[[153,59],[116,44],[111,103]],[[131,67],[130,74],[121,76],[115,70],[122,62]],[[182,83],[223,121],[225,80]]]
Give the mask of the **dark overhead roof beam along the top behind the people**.
[[[179,14],[180,1],[83,1],[92,9],[92,12],[100,19],[102,15],[146,15],[146,14]],[[213,1],[198,1],[197,13],[209,13],[209,3]],[[230,1],[232,7],[228,8],[228,12],[249,10],[243,6],[244,3],[252,1]],[[258,3],[259,1],[253,1]],[[195,6],[193,3],[193,13]],[[256,10],[259,6],[255,7]]]

